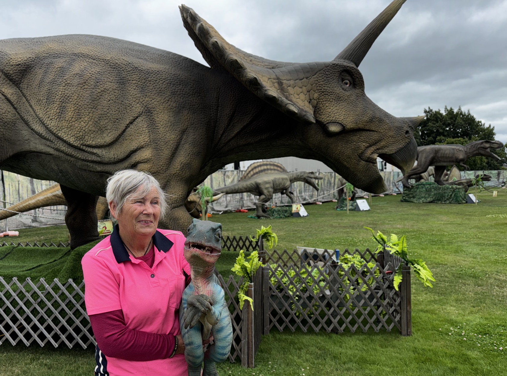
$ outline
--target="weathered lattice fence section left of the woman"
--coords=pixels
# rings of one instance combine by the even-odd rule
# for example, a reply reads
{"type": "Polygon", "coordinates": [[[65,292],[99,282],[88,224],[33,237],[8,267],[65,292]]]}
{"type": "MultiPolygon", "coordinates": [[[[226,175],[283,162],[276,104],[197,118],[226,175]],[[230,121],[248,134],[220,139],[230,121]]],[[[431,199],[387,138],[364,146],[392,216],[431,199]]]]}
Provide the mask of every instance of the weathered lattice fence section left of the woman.
{"type": "Polygon", "coordinates": [[[84,283],[77,286],[71,279],[62,285],[58,279],[8,283],[0,277],[0,345],[95,346],[83,290],[84,283]]]}

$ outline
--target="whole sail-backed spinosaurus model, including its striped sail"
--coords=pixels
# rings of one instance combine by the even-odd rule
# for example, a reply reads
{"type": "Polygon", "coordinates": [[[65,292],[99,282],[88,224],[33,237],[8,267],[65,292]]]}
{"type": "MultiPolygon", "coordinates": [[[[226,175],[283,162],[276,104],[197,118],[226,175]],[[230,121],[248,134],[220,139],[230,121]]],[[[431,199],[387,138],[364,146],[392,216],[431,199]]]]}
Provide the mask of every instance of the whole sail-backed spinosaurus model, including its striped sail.
{"type": "Polygon", "coordinates": [[[246,192],[259,196],[256,204],[256,215],[259,218],[269,218],[270,215],[266,211],[266,203],[273,198],[275,193],[286,195],[292,203],[295,202],[294,193],[289,191],[292,183],[303,181],[311,185],[315,190],[319,190],[315,180],[322,179],[322,176],[308,171],[287,172],[279,163],[271,162],[270,164],[266,164],[265,162],[254,163],[252,164],[252,168],[250,170],[247,169],[237,183],[218,188],[215,191],[221,194],[246,192]],[[281,168],[276,168],[276,165],[279,165],[281,168]],[[280,172],[272,172],[277,170],[280,172]]]}

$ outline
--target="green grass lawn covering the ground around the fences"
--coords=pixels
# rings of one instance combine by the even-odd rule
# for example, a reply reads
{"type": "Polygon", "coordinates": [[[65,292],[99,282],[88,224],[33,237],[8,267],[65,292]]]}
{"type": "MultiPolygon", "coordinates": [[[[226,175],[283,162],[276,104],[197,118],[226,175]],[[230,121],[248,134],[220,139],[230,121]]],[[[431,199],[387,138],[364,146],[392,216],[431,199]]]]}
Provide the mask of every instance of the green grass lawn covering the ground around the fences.
{"type": "MultiPolygon", "coordinates": [[[[224,235],[254,235],[261,225],[271,224],[279,238],[277,249],[375,248],[364,226],[407,235],[411,256],[423,258],[437,279],[434,288],[412,279],[411,337],[402,337],[397,330],[329,334],[274,329],[263,336],[255,369],[224,363],[221,375],[507,374],[507,191],[491,196],[479,193],[478,205],[413,204],[400,202],[400,196],[374,197],[368,212],[347,214],[324,203],[305,206],[310,214],[305,218],[214,215],[211,220],[222,222],[224,235]]],[[[43,230],[53,231],[39,229],[40,239],[43,230]]],[[[59,231],[66,232],[61,227],[59,231]]],[[[234,255],[223,257],[225,273],[234,255]]],[[[0,376],[90,375],[93,363],[92,352],[79,349],[6,343],[0,350],[0,376]]]]}

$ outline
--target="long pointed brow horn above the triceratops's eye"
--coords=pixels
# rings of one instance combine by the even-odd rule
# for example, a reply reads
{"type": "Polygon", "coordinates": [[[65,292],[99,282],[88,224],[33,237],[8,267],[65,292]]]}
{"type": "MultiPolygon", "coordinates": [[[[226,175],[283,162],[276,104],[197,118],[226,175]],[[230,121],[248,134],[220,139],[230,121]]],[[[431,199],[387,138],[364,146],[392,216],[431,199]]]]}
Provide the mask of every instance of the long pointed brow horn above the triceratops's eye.
{"type": "Polygon", "coordinates": [[[372,22],[361,31],[335,60],[348,60],[359,66],[382,30],[400,10],[406,0],[394,0],[372,22]]]}

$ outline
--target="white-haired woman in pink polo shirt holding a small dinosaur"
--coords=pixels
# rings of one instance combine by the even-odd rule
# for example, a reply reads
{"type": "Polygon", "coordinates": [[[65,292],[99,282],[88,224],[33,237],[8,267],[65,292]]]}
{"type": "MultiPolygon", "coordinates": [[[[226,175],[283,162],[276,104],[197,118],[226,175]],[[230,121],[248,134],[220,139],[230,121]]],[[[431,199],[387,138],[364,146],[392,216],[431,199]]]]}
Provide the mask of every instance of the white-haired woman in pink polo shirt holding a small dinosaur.
{"type": "Polygon", "coordinates": [[[82,260],[95,375],[187,375],[178,318],[190,282],[185,236],[157,230],[165,194],[148,173],[118,171],[106,199],[118,224],[82,260]]]}

